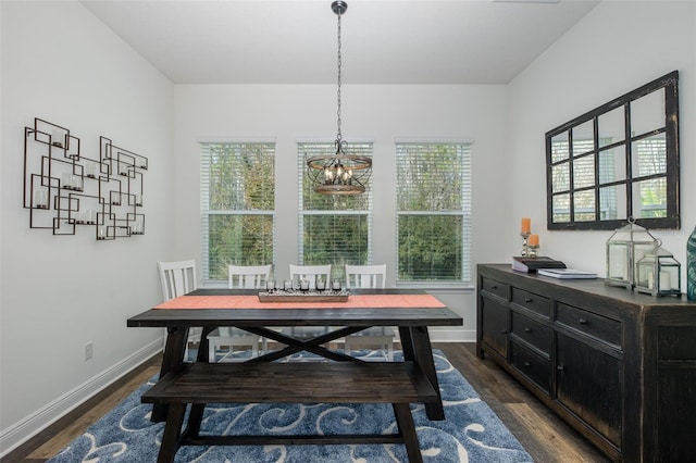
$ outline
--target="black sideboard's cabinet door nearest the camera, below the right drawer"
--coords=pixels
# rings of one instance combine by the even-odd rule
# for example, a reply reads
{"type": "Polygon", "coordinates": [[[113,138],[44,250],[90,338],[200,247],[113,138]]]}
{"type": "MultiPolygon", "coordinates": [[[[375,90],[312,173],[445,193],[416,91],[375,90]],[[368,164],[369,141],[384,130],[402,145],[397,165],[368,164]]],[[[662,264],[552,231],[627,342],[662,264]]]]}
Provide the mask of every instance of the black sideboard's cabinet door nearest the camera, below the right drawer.
{"type": "Polygon", "coordinates": [[[621,448],[621,361],[557,336],[557,400],[621,448]]]}

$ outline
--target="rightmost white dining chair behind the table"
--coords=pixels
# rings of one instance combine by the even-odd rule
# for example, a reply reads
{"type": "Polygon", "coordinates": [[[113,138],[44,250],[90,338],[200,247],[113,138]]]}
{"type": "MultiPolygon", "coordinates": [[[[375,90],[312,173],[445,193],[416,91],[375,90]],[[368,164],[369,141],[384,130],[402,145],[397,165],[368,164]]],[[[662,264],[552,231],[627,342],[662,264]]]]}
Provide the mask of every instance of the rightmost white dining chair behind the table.
{"type": "MultiPolygon", "coordinates": [[[[346,288],[385,288],[387,265],[346,265],[346,288]]],[[[378,346],[384,349],[386,359],[394,360],[394,328],[373,326],[362,331],[346,336],[345,351],[351,352],[355,347],[378,346]]]]}

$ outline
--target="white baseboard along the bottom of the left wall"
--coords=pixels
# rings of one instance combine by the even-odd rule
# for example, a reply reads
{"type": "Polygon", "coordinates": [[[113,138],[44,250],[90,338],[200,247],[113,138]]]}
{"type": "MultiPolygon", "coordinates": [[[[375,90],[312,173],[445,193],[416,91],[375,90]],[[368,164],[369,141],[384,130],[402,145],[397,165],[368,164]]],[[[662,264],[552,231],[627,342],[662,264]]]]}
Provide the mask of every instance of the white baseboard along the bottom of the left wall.
{"type": "Polygon", "coordinates": [[[156,339],[142,349],[127,356],[112,367],[94,376],[64,396],[37,410],[26,418],[2,429],[0,433],[0,458],[26,442],[32,437],[50,426],[71,410],[117,380],[142,362],[162,350],[162,338],[156,339]]]}

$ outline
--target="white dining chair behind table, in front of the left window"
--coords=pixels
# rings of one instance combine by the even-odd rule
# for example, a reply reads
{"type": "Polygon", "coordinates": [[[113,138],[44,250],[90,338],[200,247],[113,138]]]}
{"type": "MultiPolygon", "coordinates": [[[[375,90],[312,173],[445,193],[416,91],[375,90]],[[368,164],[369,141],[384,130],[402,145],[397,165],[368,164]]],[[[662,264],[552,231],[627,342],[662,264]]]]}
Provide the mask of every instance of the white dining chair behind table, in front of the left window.
{"type": "MultiPolygon", "coordinates": [[[[270,277],[271,265],[229,265],[227,267],[227,286],[229,288],[265,288],[265,283],[270,277]]],[[[234,356],[235,346],[251,347],[251,356],[258,356],[259,342],[262,343],[261,349],[265,352],[265,338],[233,326],[221,326],[208,335],[208,361],[216,363],[247,360],[244,356],[234,356]],[[217,356],[221,354],[222,356],[219,359],[217,356]]]]}

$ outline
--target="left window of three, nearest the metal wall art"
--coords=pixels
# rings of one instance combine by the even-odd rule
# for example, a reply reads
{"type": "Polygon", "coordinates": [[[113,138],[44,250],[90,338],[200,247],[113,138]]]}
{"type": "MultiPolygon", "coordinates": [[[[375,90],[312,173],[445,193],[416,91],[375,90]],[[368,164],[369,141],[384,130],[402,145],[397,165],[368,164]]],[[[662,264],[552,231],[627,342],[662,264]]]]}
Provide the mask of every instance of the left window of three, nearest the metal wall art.
{"type": "Polygon", "coordinates": [[[275,261],[275,145],[201,143],[203,279],[275,261]]]}

